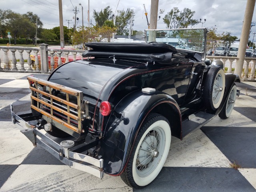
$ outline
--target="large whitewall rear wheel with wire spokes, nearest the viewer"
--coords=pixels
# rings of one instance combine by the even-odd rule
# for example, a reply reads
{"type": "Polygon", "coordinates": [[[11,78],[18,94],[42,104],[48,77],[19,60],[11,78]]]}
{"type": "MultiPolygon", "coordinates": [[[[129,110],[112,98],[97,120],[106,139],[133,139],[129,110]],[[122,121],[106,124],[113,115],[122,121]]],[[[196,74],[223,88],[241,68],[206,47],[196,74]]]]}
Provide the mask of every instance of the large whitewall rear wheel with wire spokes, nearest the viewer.
{"type": "Polygon", "coordinates": [[[122,180],[133,188],[150,184],[164,165],[170,143],[168,120],[160,114],[150,114],[135,139],[122,180]]]}

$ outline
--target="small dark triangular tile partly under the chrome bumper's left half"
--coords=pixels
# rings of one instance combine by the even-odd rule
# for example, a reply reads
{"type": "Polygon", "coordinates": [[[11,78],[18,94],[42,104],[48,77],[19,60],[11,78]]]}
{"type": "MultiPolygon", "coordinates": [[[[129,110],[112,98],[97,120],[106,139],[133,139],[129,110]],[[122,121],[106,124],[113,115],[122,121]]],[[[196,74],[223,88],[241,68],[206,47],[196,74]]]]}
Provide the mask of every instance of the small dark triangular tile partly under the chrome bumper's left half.
{"type": "Polygon", "coordinates": [[[60,160],[40,146],[34,148],[21,164],[64,165],[60,160]]]}

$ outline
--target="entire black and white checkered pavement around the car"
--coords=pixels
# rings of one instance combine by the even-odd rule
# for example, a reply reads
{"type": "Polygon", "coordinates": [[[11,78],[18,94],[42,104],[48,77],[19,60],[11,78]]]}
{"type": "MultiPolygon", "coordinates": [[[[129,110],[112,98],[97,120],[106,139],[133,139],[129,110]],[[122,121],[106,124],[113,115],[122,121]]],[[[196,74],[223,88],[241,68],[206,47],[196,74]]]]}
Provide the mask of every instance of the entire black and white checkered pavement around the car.
{"type": "Polygon", "coordinates": [[[237,83],[241,94],[227,120],[216,117],[182,141],[172,137],[158,177],[134,190],[120,177],[105,174],[100,180],[62,164],[19,132],[9,105],[18,114],[30,110],[28,75],[0,72],[0,192],[256,191],[256,82],[237,83]],[[231,168],[234,162],[242,168],[231,168]]]}

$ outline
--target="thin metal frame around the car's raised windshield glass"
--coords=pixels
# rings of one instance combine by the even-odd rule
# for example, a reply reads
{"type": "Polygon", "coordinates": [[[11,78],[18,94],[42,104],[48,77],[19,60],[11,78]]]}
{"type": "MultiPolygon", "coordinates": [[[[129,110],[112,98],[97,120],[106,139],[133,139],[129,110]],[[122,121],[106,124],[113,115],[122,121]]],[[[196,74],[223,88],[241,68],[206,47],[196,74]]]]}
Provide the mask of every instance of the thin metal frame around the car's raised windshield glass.
{"type": "MultiPolygon", "coordinates": [[[[148,33],[150,31],[174,31],[174,30],[203,30],[203,39],[202,39],[202,47],[204,47],[203,52],[198,52],[202,54],[202,61],[205,60],[206,58],[206,42],[207,42],[207,28],[180,28],[180,29],[146,29],[145,30],[145,42],[148,43],[148,33]],[[147,33],[148,32],[148,33],[147,33]]],[[[184,50],[184,49],[183,49],[184,50]]],[[[185,49],[186,50],[186,49],[185,49]]],[[[189,51],[193,51],[193,50],[189,50],[189,51]]],[[[197,51],[194,51],[197,52],[197,51]]]]}

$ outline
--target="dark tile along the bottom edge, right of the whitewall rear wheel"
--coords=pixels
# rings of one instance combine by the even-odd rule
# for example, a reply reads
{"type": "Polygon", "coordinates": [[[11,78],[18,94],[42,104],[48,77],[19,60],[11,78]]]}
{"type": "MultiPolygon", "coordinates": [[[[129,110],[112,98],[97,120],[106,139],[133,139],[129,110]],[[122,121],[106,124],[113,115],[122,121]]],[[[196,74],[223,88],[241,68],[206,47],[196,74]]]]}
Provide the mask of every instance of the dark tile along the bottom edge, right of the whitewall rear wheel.
{"type": "Polygon", "coordinates": [[[232,168],[163,167],[156,179],[134,192],[255,192],[254,187],[232,168]]]}

